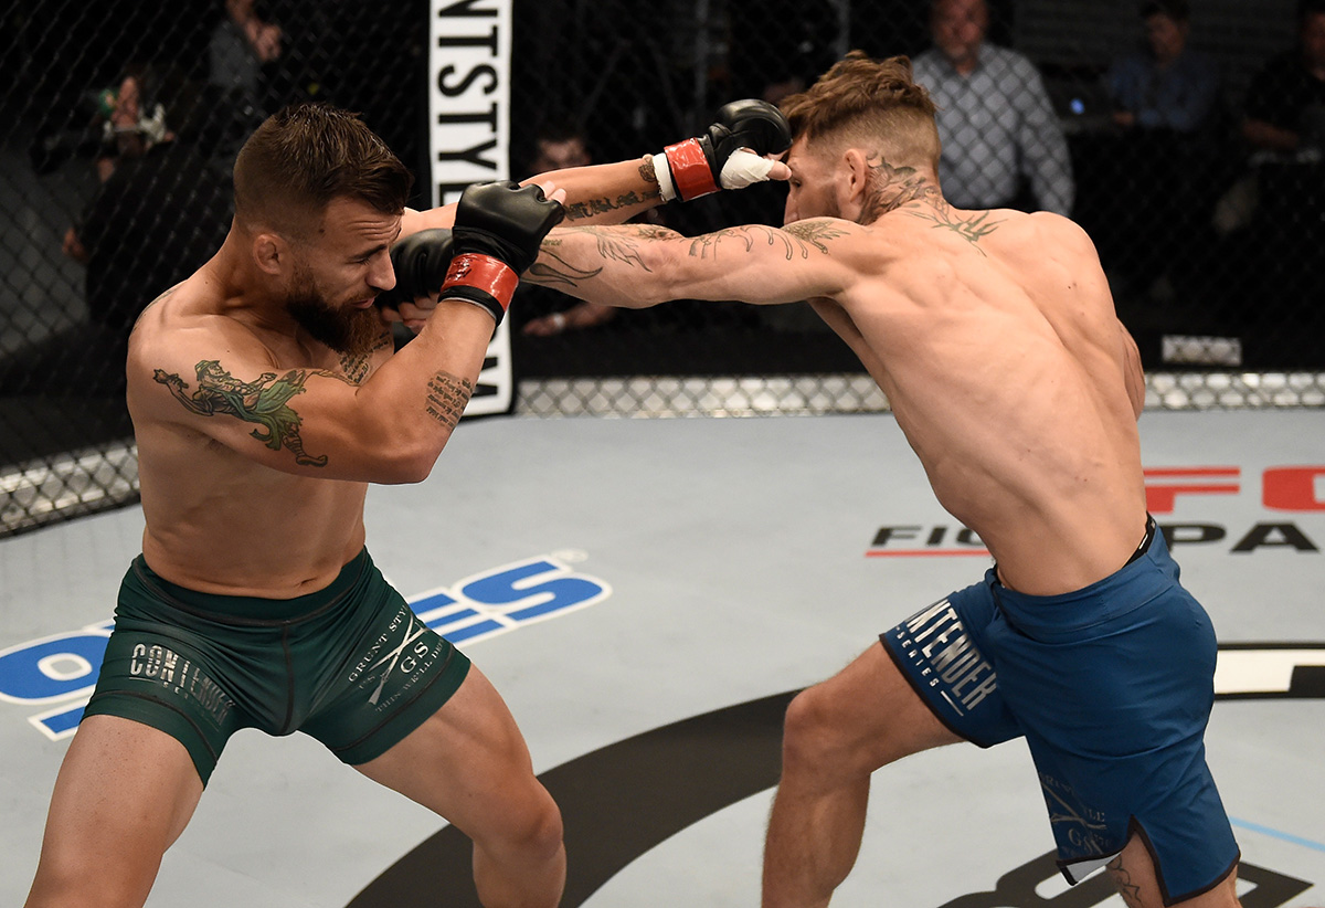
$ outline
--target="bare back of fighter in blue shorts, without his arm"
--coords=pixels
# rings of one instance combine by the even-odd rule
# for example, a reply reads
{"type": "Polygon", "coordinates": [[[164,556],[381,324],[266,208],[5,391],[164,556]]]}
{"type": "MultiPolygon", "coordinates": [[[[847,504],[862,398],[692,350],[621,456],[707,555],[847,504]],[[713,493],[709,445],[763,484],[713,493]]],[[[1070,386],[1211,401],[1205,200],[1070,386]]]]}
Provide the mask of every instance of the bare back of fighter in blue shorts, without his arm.
{"type": "Polygon", "coordinates": [[[815,308],[1004,583],[1052,595],[1117,570],[1145,525],[1140,361],[1085,233],[917,203],[833,255],[859,277],[815,308]]]}

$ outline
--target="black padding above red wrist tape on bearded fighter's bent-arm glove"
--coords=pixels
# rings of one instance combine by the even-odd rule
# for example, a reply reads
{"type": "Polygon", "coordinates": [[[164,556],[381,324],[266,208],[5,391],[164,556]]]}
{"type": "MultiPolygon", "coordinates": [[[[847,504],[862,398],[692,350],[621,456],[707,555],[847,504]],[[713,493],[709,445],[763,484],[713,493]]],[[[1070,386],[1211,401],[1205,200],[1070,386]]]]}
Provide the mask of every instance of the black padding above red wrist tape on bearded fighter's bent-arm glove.
{"type": "Polygon", "coordinates": [[[543,237],[564,216],[560,203],[549,201],[538,186],[476,183],[456,207],[456,252],[492,256],[522,273],[538,258],[543,237]]]}

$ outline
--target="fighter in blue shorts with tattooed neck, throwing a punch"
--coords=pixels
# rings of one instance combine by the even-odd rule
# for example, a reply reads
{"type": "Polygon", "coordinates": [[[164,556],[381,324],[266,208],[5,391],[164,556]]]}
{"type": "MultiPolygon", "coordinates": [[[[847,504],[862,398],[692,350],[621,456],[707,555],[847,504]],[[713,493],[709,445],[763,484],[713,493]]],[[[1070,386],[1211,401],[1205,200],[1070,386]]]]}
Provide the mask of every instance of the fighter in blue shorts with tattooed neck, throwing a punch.
{"type": "MultiPolygon", "coordinates": [[[[933,15],[974,72],[983,0],[933,15]]],[[[792,700],[763,905],[828,904],[881,766],[1022,734],[1069,879],[1106,864],[1130,908],[1230,908],[1238,848],[1202,749],[1215,639],[1147,529],[1137,346],[1080,227],[947,203],[935,110],[905,57],[848,54],[783,101],[782,229],[553,231],[535,277],[600,305],[808,300],[998,565],[792,700]]]]}

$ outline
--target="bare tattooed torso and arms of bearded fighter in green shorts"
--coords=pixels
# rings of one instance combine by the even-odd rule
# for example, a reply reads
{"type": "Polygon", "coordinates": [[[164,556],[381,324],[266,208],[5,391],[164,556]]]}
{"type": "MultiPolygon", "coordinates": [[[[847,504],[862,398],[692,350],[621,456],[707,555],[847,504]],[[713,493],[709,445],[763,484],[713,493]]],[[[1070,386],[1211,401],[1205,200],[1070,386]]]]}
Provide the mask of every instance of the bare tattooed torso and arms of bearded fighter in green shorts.
{"type": "MultiPolygon", "coordinates": [[[[556,183],[571,220],[657,204],[640,162],[562,171],[556,183]]],[[[395,217],[334,207],[347,227],[325,237],[319,264],[338,285],[319,290],[364,309],[388,244],[454,219],[454,205],[395,217]],[[375,262],[360,261],[374,249],[375,262]]],[[[400,353],[383,325],[371,350],[341,354],[254,293],[236,245],[148,306],[130,341],[143,555],[191,590],[286,599],[325,587],[363,547],[370,482],[427,476],[469,400],[492,319],[447,302],[444,335],[424,305],[400,353]]]]}

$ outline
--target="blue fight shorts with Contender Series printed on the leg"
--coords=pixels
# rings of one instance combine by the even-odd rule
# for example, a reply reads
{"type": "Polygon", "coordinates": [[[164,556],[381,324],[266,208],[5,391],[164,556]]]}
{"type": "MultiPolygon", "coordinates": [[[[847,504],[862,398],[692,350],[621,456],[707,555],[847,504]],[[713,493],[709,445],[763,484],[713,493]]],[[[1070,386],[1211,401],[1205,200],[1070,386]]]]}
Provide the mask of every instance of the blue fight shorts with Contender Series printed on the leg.
{"type": "Polygon", "coordinates": [[[982,748],[1026,736],[1069,883],[1133,834],[1166,905],[1236,866],[1203,742],[1215,632],[1153,520],[1133,559],[1098,583],[1030,596],[990,569],[880,639],[955,734],[982,748]]]}

